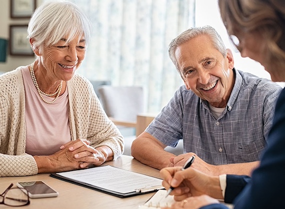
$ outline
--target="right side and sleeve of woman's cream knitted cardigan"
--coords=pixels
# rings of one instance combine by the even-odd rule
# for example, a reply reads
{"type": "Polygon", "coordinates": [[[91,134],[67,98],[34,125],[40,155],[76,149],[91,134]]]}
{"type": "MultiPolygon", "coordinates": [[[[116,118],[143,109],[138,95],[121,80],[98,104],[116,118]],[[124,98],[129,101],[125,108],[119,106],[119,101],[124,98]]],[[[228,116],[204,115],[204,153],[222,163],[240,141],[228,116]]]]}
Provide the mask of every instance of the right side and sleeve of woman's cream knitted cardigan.
{"type": "MultiPolygon", "coordinates": [[[[113,160],[123,153],[124,143],[117,127],[105,114],[92,84],[83,76],[75,75],[68,82],[71,130],[76,138],[87,139],[96,148],[108,146],[113,160]]],[[[75,140],[75,139],[73,139],[75,140]]]]}

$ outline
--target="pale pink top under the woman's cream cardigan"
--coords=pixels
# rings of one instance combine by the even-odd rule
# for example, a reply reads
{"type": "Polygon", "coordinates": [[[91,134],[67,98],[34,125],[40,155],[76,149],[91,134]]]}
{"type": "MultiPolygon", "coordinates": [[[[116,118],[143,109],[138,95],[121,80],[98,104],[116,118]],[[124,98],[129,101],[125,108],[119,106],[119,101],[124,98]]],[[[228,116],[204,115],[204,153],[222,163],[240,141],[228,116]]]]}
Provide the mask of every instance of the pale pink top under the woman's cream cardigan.
{"type": "MultiPolygon", "coordinates": [[[[28,67],[21,71],[25,91],[26,153],[32,156],[52,155],[71,140],[67,88],[54,103],[46,104],[37,93],[28,67]]],[[[54,99],[42,96],[47,101],[54,99]]]]}

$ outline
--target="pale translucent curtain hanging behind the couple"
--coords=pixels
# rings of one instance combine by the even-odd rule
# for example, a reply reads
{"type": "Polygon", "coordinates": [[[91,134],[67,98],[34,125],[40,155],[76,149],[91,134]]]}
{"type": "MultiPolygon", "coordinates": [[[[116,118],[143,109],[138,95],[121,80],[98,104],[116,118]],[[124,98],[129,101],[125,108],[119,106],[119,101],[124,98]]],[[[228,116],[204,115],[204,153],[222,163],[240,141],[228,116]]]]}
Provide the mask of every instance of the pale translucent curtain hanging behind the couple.
{"type": "Polygon", "coordinates": [[[194,26],[195,0],[70,0],[93,31],[78,72],[116,86],[143,86],[146,109],[159,112],[183,84],[168,44],[194,26]]]}

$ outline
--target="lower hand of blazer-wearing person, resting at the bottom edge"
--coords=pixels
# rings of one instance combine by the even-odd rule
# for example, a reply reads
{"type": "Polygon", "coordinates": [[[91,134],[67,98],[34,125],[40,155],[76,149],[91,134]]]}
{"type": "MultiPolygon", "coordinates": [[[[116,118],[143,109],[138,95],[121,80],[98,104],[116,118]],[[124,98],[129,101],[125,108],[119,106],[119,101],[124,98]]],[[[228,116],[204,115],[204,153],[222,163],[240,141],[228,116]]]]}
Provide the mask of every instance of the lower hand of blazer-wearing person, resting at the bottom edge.
{"type": "Polygon", "coordinates": [[[169,209],[199,209],[201,207],[217,204],[219,203],[217,200],[206,196],[198,196],[198,197],[190,197],[183,201],[174,203],[169,209]]]}

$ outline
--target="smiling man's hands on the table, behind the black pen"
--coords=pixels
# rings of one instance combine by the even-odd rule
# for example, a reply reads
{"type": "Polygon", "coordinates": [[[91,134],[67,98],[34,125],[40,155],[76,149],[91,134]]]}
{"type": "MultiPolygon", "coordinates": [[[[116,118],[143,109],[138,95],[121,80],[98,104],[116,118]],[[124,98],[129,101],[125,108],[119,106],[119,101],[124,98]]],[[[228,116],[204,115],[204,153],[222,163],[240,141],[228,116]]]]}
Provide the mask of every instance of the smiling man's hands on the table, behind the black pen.
{"type": "Polygon", "coordinates": [[[176,157],[171,157],[169,159],[170,164],[169,167],[173,166],[183,166],[185,162],[192,156],[195,156],[195,161],[191,165],[191,168],[197,169],[198,171],[201,171],[208,175],[213,175],[217,173],[217,167],[214,165],[210,165],[206,162],[204,162],[202,159],[200,159],[195,153],[185,153],[178,155],[176,157]]]}

